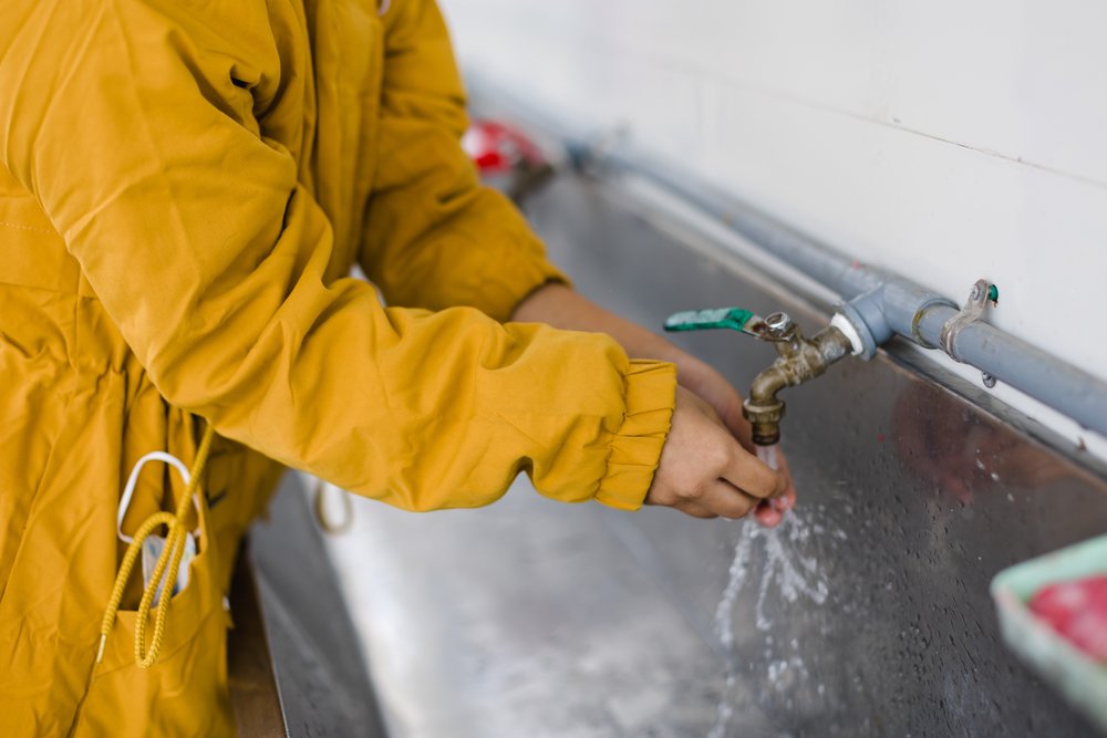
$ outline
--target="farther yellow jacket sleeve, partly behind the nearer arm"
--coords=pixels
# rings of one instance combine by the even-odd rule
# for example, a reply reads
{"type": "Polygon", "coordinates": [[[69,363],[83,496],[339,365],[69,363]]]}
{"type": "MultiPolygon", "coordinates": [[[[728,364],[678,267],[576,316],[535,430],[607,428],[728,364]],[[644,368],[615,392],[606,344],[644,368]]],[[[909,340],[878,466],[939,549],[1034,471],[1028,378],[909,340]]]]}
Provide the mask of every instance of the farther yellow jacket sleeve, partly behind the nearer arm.
{"type": "Polygon", "coordinates": [[[384,21],[362,267],[390,304],[473,305],[507,320],[530,291],[567,280],[515,206],[479,185],[462,150],[465,97],[437,4],[401,0],[384,21]]]}

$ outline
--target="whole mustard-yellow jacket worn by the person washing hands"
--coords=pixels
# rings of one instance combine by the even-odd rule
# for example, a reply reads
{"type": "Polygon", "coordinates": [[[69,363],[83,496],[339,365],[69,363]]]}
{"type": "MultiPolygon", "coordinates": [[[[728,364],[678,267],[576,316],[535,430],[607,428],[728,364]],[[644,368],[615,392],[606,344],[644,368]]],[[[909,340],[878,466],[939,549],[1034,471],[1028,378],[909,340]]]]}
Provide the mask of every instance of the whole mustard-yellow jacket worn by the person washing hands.
{"type": "MultiPolygon", "coordinates": [[[[497,322],[561,276],[477,186],[463,105],[431,0],[3,3],[0,735],[230,732],[224,594],[280,465],[412,510],[520,470],[641,503],[675,372],[497,322]],[[190,465],[199,418],[158,661],[123,610],[96,664],[123,482],[147,451],[190,465]]],[[[124,530],[174,507],[164,469],[124,530]]]]}

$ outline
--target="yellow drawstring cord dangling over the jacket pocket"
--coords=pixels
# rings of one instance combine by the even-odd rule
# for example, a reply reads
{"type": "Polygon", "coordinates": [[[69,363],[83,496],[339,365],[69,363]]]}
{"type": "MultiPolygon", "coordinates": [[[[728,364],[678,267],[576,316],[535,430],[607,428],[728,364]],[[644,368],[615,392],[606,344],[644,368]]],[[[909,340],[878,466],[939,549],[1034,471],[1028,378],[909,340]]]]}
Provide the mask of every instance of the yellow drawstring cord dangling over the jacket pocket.
{"type": "Polygon", "coordinates": [[[204,472],[204,466],[207,464],[208,451],[211,449],[211,438],[214,436],[215,429],[210,425],[207,425],[204,428],[204,437],[200,439],[200,446],[196,451],[196,460],[193,461],[188,485],[185,493],[177,502],[176,511],[173,514],[164,510],[155,512],[146,518],[138,527],[138,530],[135,531],[134,539],[123,555],[123,563],[120,565],[120,571],[115,575],[115,586],[112,588],[112,599],[107,603],[107,610],[104,611],[104,620],[100,623],[100,648],[96,652],[97,664],[104,659],[104,646],[107,643],[108,634],[112,632],[112,626],[115,625],[115,615],[118,613],[120,603],[123,601],[123,590],[126,588],[127,579],[131,576],[131,570],[134,569],[135,561],[137,561],[138,554],[142,552],[143,541],[154,532],[155,528],[164,524],[168,527],[169,533],[165,541],[165,548],[157,558],[154,573],[149,578],[149,581],[146,582],[146,589],[143,590],[142,601],[138,603],[138,622],[135,630],[135,664],[139,668],[149,668],[157,661],[157,653],[162,649],[162,640],[165,635],[165,617],[169,612],[169,601],[173,599],[173,585],[177,581],[180,558],[185,553],[185,536],[187,534],[185,530],[185,513],[188,512],[188,506],[192,505],[193,496],[199,487],[199,478],[204,472]],[[168,565],[169,571],[166,575],[165,586],[162,588],[162,597],[157,602],[157,612],[154,616],[154,638],[147,651],[146,619],[149,615],[151,603],[157,593],[158,583],[162,581],[162,574],[165,573],[166,565],[168,565]]]}

